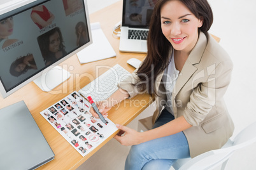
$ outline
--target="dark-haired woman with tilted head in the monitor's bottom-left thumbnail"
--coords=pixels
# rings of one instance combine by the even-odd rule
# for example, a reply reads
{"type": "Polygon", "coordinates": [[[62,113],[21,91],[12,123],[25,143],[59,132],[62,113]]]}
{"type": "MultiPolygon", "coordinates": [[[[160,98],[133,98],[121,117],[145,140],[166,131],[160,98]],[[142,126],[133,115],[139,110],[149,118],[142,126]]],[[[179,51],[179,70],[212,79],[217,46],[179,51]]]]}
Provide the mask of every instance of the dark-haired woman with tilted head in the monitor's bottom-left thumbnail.
{"type": "Polygon", "coordinates": [[[18,77],[22,74],[25,74],[29,69],[38,69],[38,67],[36,67],[36,62],[34,61],[34,56],[32,54],[20,56],[13,63],[11,63],[10,74],[18,77]]]}

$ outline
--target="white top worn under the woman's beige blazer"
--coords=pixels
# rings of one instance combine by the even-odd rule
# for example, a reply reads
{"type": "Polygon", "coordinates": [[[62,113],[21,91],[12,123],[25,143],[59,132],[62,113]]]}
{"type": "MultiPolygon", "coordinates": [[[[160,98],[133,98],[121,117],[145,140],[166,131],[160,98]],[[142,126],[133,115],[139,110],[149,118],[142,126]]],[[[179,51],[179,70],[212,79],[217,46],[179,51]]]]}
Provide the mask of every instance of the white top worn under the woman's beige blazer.
{"type": "Polygon", "coordinates": [[[164,75],[162,76],[162,82],[164,83],[164,88],[166,89],[166,96],[167,96],[165,107],[168,110],[168,112],[170,112],[171,114],[173,114],[173,105],[171,104],[171,96],[173,93],[173,88],[176,84],[176,80],[178,79],[178,76],[180,74],[180,71],[177,70],[175,67],[173,53],[171,55],[171,62],[164,70],[164,75]]]}

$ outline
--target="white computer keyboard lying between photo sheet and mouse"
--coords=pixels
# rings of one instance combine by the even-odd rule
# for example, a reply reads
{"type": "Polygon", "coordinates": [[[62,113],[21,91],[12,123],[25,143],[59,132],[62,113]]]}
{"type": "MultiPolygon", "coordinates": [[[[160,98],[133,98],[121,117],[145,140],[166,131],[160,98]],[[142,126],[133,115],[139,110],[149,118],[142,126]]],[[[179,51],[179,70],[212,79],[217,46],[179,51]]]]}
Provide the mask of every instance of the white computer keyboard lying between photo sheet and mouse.
{"type": "Polygon", "coordinates": [[[78,92],[84,96],[92,96],[94,101],[105,100],[117,91],[118,82],[123,81],[129,75],[131,75],[130,72],[117,64],[114,67],[110,67],[109,70],[94,79],[94,81],[87,84],[87,86],[83,87],[78,92]]]}

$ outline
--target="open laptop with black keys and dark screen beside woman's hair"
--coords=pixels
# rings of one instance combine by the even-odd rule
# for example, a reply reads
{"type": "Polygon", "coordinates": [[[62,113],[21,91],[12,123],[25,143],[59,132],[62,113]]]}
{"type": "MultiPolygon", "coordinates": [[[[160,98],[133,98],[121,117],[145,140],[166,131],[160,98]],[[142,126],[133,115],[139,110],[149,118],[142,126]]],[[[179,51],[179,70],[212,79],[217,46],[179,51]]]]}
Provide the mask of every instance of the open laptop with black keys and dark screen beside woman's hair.
{"type": "Polygon", "coordinates": [[[157,0],[124,0],[119,51],[146,53],[146,38],[157,0]]]}

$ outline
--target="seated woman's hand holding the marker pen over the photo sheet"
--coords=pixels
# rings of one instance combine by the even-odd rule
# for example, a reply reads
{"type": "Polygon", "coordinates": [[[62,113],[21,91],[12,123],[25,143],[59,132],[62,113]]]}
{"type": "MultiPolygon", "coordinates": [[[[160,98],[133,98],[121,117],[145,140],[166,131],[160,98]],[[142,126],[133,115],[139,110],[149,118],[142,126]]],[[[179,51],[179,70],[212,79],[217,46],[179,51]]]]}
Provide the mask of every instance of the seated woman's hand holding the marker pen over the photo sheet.
{"type": "MultiPolygon", "coordinates": [[[[108,110],[110,110],[112,107],[110,106],[110,103],[108,103],[108,100],[97,101],[95,103],[103,117],[108,117],[108,110]]],[[[90,114],[92,114],[92,116],[96,118],[99,118],[99,115],[95,112],[94,108],[92,107],[90,107],[90,114]]]]}

